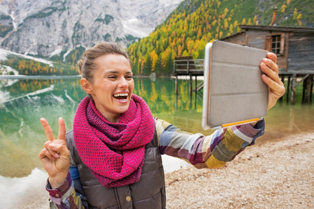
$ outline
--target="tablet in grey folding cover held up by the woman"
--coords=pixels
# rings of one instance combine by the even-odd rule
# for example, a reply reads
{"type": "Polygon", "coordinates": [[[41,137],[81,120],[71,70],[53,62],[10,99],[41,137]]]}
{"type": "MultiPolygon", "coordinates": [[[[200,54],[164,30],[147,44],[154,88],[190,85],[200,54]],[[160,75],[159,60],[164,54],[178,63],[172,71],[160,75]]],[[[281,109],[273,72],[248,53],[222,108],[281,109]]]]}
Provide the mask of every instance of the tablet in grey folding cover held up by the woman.
{"type": "Polygon", "coordinates": [[[268,86],[259,63],[267,51],[215,40],[204,61],[202,127],[227,127],[266,116],[268,86]]]}

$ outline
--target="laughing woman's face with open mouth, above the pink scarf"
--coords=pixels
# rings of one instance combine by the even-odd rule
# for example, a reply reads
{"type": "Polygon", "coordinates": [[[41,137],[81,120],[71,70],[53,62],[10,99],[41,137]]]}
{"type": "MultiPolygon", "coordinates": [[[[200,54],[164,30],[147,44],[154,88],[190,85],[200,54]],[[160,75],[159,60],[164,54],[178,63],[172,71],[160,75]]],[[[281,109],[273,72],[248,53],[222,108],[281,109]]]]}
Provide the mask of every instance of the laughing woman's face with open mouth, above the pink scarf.
{"type": "Polygon", "coordinates": [[[90,93],[97,109],[110,122],[117,123],[120,114],[129,109],[134,90],[129,61],[120,54],[106,54],[95,60],[91,82],[81,80],[86,93],[90,93]]]}

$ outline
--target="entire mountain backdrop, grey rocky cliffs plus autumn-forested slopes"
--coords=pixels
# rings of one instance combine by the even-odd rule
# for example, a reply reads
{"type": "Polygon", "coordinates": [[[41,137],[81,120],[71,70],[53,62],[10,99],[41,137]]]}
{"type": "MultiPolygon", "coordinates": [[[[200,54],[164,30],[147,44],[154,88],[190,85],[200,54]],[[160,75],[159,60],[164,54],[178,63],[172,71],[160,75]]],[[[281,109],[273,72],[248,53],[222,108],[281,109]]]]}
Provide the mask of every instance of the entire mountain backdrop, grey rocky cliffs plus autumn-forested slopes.
{"type": "Polygon", "coordinates": [[[204,59],[207,42],[240,24],[269,25],[275,6],[275,25],[314,27],[313,0],[1,0],[1,48],[50,59],[54,68],[34,70],[34,61],[13,56],[0,64],[22,75],[73,75],[86,47],[110,40],[129,46],[134,74],[170,75],[175,56],[204,59]]]}

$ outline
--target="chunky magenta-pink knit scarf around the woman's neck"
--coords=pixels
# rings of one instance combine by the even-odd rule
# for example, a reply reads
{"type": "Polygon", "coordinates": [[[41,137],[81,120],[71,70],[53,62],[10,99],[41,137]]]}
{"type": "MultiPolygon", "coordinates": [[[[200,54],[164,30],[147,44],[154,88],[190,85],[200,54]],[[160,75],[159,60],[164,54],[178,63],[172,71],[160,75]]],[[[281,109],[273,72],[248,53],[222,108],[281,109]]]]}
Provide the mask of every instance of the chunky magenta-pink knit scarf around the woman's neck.
{"type": "Polygon", "coordinates": [[[105,187],[136,183],[141,176],[145,145],[154,135],[155,122],[148,105],[132,95],[119,123],[110,123],[84,98],[76,110],[73,134],[83,163],[105,187]]]}

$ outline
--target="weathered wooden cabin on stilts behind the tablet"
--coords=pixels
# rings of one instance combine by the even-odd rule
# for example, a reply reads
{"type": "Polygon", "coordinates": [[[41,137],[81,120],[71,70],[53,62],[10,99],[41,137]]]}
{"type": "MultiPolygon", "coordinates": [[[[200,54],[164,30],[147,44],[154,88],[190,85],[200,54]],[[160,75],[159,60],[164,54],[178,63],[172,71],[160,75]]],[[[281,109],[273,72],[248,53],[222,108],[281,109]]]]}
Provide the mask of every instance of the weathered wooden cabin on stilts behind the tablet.
{"type": "Polygon", "coordinates": [[[285,26],[240,25],[243,30],[221,38],[238,45],[265,49],[277,54],[279,75],[287,78],[287,100],[290,88],[294,104],[297,85],[303,82],[302,102],[311,102],[314,77],[314,29],[285,26]],[[291,82],[291,86],[290,86],[291,82]]]}

